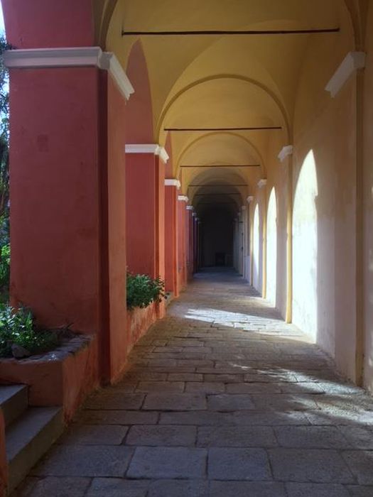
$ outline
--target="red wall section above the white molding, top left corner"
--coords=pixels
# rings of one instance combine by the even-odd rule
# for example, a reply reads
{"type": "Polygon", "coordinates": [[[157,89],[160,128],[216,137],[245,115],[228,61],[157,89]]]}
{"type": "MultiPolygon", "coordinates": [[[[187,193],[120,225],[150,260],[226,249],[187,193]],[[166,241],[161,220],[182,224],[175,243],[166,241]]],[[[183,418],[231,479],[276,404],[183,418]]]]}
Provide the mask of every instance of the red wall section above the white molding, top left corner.
{"type": "Polygon", "coordinates": [[[92,0],[1,0],[6,37],[16,48],[94,43],[92,0]]]}

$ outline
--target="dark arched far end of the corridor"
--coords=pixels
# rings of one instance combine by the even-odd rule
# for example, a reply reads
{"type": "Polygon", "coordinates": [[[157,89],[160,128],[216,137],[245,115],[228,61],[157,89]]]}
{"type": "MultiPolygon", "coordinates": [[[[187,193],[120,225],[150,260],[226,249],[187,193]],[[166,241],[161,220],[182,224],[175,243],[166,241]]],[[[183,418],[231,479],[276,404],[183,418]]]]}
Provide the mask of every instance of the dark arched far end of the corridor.
{"type": "Polygon", "coordinates": [[[203,213],[201,263],[202,267],[233,266],[234,220],[228,209],[218,204],[203,213]]]}

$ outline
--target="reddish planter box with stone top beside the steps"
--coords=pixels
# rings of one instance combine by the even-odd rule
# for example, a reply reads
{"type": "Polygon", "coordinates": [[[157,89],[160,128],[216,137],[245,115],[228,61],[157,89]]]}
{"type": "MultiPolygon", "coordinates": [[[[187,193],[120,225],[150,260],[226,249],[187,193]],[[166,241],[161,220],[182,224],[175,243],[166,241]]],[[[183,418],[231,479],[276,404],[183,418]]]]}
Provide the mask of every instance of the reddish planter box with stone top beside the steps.
{"type": "Polygon", "coordinates": [[[99,384],[97,339],[77,335],[47,354],[1,359],[0,383],[28,385],[29,405],[61,406],[68,421],[99,384]]]}

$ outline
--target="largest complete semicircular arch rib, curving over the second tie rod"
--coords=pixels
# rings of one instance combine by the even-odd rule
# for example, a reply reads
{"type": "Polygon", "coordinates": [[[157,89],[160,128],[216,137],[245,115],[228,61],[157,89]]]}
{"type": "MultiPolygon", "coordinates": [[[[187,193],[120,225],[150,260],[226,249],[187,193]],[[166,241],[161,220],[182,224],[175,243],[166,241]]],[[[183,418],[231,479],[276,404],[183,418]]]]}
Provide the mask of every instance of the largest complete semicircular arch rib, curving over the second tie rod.
{"type": "Polygon", "coordinates": [[[177,92],[170,99],[170,101],[166,104],[166,107],[164,107],[163,111],[161,112],[161,116],[159,116],[157,129],[156,129],[156,136],[158,137],[158,139],[160,138],[162,123],[166,119],[166,115],[167,115],[169,109],[171,109],[173,104],[175,104],[175,102],[181,97],[181,95],[183,95],[185,92],[188,92],[188,90],[199,86],[200,84],[204,84],[204,83],[209,82],[209,81],[224,80],[224,79],[239,80],[239,81],[247,82],[248,84],[253,84],[254,86],[262,89],[266,94],[268,94],[269,97],[271,98],[271,100],[276,104],[276,107],[279,109],[279,111],[281,113],[281,116],[283,118],[283,122],[284,122],[285,128],[286,128],[286,139],[290,139],[291,126],[290,126],[289,121],[288,121],[288,116],[286,115],[286,109],[285,109],[285,107],[283,107],[283,104],[281,104],[281,101],[279,100],[279,98],[276,97],[276,94],[274,94],[274,92],[271,92],[271,90],[268,87],[266,87],[264,84],[262,84],[261,82],[253,80],[250,77],[246,77],[246,76],[242,76],[242,75],[229,75],[229,74],[220,74],[220,75],[203,77],[198,81],[195,81],[193,83],[188,84],[183,89],[180,89],[180,91],[177,92]]]}

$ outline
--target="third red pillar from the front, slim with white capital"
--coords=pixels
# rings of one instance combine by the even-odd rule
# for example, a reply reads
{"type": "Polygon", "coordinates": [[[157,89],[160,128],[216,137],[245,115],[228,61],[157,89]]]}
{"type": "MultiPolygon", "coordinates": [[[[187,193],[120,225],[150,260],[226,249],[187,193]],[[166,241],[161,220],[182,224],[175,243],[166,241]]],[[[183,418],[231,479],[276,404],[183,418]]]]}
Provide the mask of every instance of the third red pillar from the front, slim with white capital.
{"type": "Polygon", "coordinates": [[[178,190],[180,181],[166,179],[165,200],[165,283],[166,291],[179,295],[178,286],[178,190]]]}

